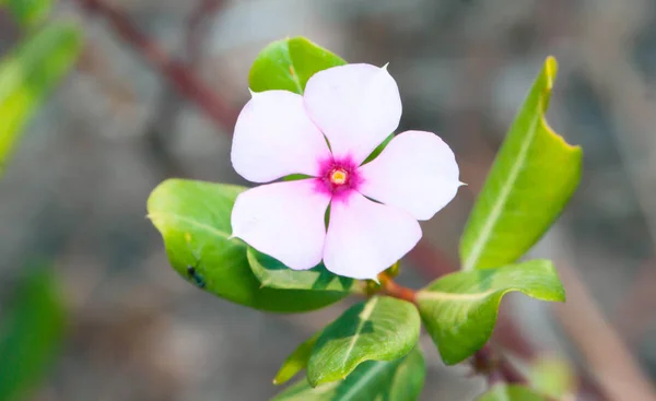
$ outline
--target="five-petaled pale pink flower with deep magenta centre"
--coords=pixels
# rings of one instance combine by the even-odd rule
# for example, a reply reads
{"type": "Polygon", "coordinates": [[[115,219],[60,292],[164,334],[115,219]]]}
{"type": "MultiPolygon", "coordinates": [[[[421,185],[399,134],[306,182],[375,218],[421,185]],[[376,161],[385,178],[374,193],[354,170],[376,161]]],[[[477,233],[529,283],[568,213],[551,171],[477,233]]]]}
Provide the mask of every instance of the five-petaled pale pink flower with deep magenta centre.
{"type": "Polygon", "coordinates": [[[320,71],[303,96],[254,93],[235,127],[235,170],[254,182],[308,178],[239,194],[233,236],[294,270],[323,260],[336,274],[375,279],[417,245],[418,220],[461,185],[454,153],[432,132],[402,132],[362,164],[400,118],[396,81],[371,64],[320,71]]]}

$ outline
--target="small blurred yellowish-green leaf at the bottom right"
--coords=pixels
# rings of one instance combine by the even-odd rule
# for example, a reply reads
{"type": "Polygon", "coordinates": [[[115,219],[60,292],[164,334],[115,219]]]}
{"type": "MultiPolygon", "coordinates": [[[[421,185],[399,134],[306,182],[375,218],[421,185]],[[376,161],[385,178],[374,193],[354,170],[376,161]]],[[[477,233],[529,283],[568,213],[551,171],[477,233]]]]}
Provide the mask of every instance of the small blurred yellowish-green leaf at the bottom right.
{"type": "Polygon", "coordinates": [[[576,391],[575,373],[561,358],[540,357],[529,369],[529,381],[537,392],[555,400],[563,400],[576,391]]]}

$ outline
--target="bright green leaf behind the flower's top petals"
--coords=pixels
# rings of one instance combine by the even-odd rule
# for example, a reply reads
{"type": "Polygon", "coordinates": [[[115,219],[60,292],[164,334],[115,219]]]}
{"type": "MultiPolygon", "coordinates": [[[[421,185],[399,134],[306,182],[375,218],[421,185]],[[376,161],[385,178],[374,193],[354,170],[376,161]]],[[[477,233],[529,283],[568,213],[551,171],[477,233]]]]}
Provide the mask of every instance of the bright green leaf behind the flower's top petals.
{"type": "Polygon", "coordinates": [[[347,62],[304,37],[273,42],[257,56],[248,83],[255,92],[285,90],[302,94],[316,72],[347,62]]]}

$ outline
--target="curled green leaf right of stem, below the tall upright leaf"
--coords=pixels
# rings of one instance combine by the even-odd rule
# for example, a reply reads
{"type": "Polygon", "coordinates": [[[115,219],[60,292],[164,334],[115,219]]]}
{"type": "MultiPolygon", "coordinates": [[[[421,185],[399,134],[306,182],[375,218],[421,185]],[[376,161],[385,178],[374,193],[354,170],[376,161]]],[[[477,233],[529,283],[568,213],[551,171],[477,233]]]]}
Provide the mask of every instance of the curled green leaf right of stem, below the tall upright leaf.
{"type": "Polygon", "coordinates": [[[466,359],[488,342],[501,298],[513,291],[541,300],[565,300],[549,260],[448,274],[417,294],[422,320],[445,364],[466,359]]]}

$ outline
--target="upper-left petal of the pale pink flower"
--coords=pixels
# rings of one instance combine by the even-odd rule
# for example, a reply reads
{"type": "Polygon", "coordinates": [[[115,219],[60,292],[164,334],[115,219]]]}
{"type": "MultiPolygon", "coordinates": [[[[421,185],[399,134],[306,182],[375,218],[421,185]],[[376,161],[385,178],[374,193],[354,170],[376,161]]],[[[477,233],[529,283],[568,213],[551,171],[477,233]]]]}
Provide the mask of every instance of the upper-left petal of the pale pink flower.
{"type": "Polygon", "coordinates": [[[254,93],[242,109],[231,157],[242,177],[268,182],[290,174],[318,175],[318,163],[330,157],[330,150],[301,95],[266,91],[254,93]]]}

